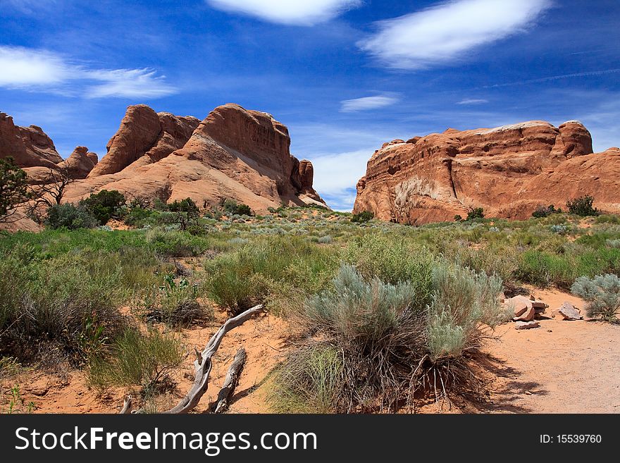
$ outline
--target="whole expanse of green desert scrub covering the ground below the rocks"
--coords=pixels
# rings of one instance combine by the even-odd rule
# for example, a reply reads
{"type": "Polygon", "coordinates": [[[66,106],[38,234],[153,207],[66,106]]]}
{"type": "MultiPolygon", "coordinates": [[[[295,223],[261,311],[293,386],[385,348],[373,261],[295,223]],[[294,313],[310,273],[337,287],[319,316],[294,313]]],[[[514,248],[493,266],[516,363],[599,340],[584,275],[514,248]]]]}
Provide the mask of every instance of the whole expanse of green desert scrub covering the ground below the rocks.
{"type": "MultiPolygon", "coordinates": [[[[617,321],[620,221],[588,204],[419,227],[105,190],[52,204],[41,232],[0,235],[0,378],[74,369],[97,394],[124,388],[157,411],[193,355],[182,333],[262,304],[294,327],[268,376],[275,412],[395,412],[481,390],[481,342],[510,319],[502,292],[571,290],[617,321]]],[[[11,410],[35,407],[11,387],[11,410]]]]}

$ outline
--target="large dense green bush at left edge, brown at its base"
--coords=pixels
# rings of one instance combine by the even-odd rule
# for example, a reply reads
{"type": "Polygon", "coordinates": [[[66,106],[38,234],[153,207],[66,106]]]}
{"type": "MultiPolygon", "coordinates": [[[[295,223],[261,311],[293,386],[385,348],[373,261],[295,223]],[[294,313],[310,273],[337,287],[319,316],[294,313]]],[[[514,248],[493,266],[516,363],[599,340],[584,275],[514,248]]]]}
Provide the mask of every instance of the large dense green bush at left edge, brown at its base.
{"type": "Polygon", "coordinates": [[[0,262],[0,355],[23,362],[84,362],[125,325],[118,268],[67,257],[0,262]],[[8,278],[11,278],[9,280],[8,278]]]}

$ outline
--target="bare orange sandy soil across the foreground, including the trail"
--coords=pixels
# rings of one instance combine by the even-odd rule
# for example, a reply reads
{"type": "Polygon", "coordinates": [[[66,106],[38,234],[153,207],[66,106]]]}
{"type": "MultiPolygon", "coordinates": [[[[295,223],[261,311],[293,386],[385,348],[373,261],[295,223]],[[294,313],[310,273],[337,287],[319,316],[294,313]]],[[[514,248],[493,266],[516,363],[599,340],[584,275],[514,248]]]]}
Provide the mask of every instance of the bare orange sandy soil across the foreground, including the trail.
{"type": "MultiPolygon", "coordinates": [[[[481,400],[446,409],[429,402],[423,413],[619,413],[620,412],[620,326],[598,321],[563,321],[552,311],[568,301],[579,309],[582,300],[559,291],[533,290],[549,304],[540,328],[517,331],[513,323],[497,329],[499,338],[485,345],[485,373],[488,395],[481,400]]],[[[159,409],[172,406],[190,388],[193,348],[202,349],[225,319],[216,314],[209,326],[184,330],[182,340],[188,356],[182,371],[173,378],[176,388],[164,395],[159,409]]],[[[207,412],[223,383],[226,371],[239,347],[247,350],[248,362],[230,408],[233,413],[268,412],[268,372],[290,348],[290,328],[274,316],[248,321],[229,333],[214,357],[209,390],[198,412],[207,412]]],[[[103,396],[87,388],[85,374],[77,370],[61,374],[25,371],[1,381],[5,397],[11,385],[19,383],[26,401],[34,401],[38,413],[117,413],[126,390],[110,390],[103,396]]]]}

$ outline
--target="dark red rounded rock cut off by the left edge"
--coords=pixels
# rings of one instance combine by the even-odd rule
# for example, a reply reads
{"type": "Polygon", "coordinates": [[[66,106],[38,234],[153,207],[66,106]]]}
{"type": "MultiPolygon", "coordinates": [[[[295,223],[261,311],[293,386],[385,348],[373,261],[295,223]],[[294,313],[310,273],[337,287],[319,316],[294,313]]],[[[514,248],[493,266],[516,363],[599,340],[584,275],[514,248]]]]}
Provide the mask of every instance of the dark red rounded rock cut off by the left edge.
{"type": "Polygon", "coordinates": [[[20,127],[11,116],[0,113],[0,158],[8,156],[20,167],[54,168],[63,160],[40,127],[20,127]]]}

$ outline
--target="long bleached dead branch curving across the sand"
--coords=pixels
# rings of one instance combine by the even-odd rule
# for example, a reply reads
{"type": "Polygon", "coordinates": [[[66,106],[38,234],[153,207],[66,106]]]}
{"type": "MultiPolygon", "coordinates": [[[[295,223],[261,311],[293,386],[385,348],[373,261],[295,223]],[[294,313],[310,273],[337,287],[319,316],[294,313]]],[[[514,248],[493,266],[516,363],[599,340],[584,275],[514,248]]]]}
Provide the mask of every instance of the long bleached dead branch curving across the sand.
{"type": "MultiPolygon", "coordinates": [[[[228,319],[221,328],[211,336],[209,342],[207,342],[206,347],[202,352],[198,352],[197,359],[194,361],[194,384],[190,391],[183,397],[175,407],[169,409],[163,413],[171,413],[171,414],[180,414],[180,413],[188,413],[198,405],[200,399],[204,393],[206,393],[206,389],[209,388],[209,374],[211,374],[211,367],[213,366],[211,359],[213,355],[218,351],[222,340],[228,331],[231,331],[237,326],[241,326],[243,323],[252,318],[254,314],[258,314],[263,310],[263,305],[259,304],[256,307],[252,307],[252,309],[247,309],[242,314],[239,314],[232,319],[228,319]]],[[[239,352],[237,352],[237,355],[239,352]]],[[[235,355],[235,360],[237,359],[237,355],[235,355]]],[[[235,362],[233,362],[234,365],[235,362]]],[[[232,366],[231,366],[232,369],[232,366]]],[[[229,371],[230,374],[230,371],[229,371]]],[[[228,375],[227,375],[228,379],[228,375]]],[[[226,385],[226,383],[225,383],[226,385]]],[[[130,413],[131,412],[131,396],[128,396],[125,399],[125,405],[123,405],[123,409],[121,413],[130,413]]],[[[131,412],[137,413],[139,411],[131,412]]]]}

